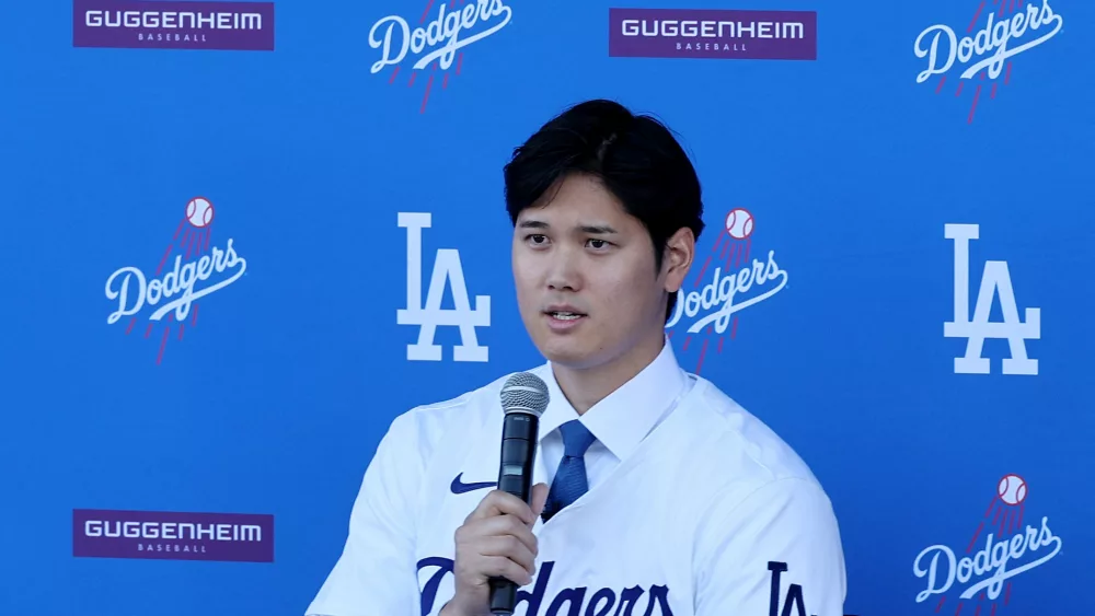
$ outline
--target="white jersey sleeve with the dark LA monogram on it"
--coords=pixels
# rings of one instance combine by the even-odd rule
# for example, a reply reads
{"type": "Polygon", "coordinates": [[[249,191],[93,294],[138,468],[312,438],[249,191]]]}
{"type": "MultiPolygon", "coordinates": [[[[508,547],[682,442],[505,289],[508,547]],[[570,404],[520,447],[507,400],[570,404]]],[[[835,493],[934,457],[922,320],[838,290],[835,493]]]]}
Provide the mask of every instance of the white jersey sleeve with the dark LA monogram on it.
{"type": "Polygon", "coordinates": [[[721,495],[694,546],[695,616],[841,616],[845,573],[831,503],[815,481],[721,495]]]}

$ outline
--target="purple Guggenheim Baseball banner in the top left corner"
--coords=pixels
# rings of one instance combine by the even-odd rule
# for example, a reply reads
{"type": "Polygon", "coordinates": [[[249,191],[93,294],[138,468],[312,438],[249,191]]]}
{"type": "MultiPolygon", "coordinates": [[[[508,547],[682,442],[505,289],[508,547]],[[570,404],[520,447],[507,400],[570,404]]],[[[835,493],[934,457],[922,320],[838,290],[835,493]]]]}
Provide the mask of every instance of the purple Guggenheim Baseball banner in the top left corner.
{"type": "Polygon", "coordinates": [[[73,0],[72,45],[273,51],[274,3],[73,0]]]}

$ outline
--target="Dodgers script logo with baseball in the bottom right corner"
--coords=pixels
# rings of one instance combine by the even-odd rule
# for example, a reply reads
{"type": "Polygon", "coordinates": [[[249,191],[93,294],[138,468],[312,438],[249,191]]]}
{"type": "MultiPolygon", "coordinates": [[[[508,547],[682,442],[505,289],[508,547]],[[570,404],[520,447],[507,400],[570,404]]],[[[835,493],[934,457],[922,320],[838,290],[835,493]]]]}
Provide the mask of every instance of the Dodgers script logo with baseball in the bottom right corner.
{"type": "Polygon", "coordinates": [[[917,603],[942,595],[932,602],[935,612],[953,597],[956,616],[964,602],[976,603],[978,613],[991,609],[995,614],[999,604],[1011,602],[1013,578],[1041,567],[1061,551],[1061,537],[1050,531],[1049,518],[1024,528],[1027,490],[1022,477],[1005,475],[965,550],[933,545],[917,555],[912,572],[926,583],[917,603]]]}

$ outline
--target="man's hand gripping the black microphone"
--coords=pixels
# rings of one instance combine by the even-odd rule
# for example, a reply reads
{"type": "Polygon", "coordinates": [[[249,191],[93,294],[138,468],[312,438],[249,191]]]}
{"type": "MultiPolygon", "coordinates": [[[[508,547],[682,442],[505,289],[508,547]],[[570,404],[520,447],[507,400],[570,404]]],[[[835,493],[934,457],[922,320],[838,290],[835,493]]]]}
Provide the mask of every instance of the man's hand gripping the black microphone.
{"type": "Polygon", "coordinates": [[[457,528],[456,595],[440,616],[489,616],[489,578],[507,578],[518,586],[532,581],[537,558],[532,526],[546,500],[545,484],[532,487],[532,507],[502,490],[483,498],[457,528]]]}

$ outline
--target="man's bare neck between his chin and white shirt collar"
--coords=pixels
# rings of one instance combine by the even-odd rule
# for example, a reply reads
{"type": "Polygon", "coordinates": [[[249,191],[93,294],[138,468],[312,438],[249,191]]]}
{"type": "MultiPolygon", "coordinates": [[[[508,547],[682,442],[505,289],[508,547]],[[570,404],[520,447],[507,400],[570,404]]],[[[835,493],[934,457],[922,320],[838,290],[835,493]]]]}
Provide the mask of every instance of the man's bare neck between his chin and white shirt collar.
{"type": "Polygon", "coordinates": [[[665,345],[665,332],[659,332],[658,336],[641,341],[623,357],[606,364],[587,369],[552,364],[552,372],[570,406],[578,415],[584,415],[650,365],[665,345]]]}

